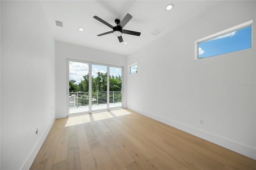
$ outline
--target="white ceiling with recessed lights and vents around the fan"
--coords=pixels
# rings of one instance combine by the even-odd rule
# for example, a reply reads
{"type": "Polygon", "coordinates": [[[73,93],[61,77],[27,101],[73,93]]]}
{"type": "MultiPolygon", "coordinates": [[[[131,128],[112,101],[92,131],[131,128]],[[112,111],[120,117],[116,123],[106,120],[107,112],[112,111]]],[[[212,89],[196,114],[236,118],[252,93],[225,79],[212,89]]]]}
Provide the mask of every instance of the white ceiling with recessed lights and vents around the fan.
{"type": "Polygon", "coordinates": [[[221,1],[56,0],[41,1],[41,3],[55,40],[129,55],[202,12],[213,8],[221,1]],[[167,4],[174,4],[174,8],[166,11],[167,4]],[[122,34],[124,42],[128,44],[120,43],[113,34],[97,36],[112,29],[94,19],[93,16],[98,16],[112,26],[116,26],[114,20],[122,20],[127,13],[133,18],[124,29],[141,32],[140,36],[122,34]],[[56,26],[55,20],[63,22],[63,28],[56,26]],[[84,32],[78,31],[78,28],[83,28],[84,32]],[[156,28],[162,32],[156,36],[150,34],[156,28]]]}

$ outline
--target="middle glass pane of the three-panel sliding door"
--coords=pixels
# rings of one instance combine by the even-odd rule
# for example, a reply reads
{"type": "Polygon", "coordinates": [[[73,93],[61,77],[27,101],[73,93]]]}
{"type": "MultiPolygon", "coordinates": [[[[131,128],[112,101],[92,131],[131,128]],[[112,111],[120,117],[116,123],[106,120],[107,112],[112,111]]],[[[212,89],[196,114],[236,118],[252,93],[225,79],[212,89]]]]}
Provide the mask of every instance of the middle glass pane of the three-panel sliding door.
{"type": "Polygon", "coordinates": [[[92,111],[107,109],[107,66],[92,64],[92,111]]]}

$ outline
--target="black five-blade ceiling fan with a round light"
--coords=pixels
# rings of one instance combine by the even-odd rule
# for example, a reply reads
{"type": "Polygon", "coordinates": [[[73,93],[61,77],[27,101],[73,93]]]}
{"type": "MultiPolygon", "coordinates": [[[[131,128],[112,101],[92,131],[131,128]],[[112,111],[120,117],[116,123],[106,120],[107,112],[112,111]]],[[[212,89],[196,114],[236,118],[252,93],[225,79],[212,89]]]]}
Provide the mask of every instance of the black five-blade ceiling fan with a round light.
{"type": "Polygon", "coordinates": [[[112,26],[112,25],[108,24],[106,21],[102,20],[98,16],[94,16],[93,18],[95,18],[99,22],[102,22],[106,26],[113,29],[113,31],[105,32],[105,33],[99,34],[97,36],[104,36],[106,34],[113,33],[114,36],[118,37],[119,42],[123,42],[122,34],[130,34],[130,35],[134,35],[134,36],[140,36],[140,32],[123,30],[124,26],[132,19],[132,16],[130,14],[126,14],[126,16],[124,17],[124,19],[121,22],[120,22],[120,20],[116,19],[115,20],[116,26],[112,26]]]}

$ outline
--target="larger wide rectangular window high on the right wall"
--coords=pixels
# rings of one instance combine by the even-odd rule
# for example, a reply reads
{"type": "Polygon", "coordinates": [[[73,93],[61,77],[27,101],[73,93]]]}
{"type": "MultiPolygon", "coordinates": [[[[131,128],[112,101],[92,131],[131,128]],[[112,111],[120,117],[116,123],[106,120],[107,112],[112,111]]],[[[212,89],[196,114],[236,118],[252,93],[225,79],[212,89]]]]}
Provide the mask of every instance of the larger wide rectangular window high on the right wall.
{"type": "Polygon", "coordinates": [[[195,59],[251,48],[252,21],[196,41],[195,59]]]}

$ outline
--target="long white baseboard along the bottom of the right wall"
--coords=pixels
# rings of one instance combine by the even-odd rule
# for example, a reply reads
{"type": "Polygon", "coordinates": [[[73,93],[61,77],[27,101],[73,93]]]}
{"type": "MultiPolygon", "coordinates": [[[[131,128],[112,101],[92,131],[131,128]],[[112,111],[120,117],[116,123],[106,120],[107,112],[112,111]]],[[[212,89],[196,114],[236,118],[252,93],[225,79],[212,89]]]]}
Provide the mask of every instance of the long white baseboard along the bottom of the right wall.
{"type": "Polygon", "coordinates": [[[242,154],[244,156],[247,156],[249,158],[256,160],[256,148],[246,146],[244,144],[229,140],[227,138],[223,138],[221,136],[200,130],[198,128],[190,127],[188,125],[173,121],[171,119],[156,115],[154,113],[150,113],[147,111],[141,111],[141,110],[129,107],[129,106],[127,106],[127,108],[130,110],[136,111],[142,115],[145,115],[147,117],[150,117],[152,119],[155,119],[157,121],[160,121],[162,123],[165,123],[166,125],[170,125],[172,127],[178,128],[184,132],[188,132],[194,136],[198,136],[199,138],[208,140],[214,144],[220,145],[224,148],[230,149],[234,152],[237,152],[239,154],[242,154]]]}

